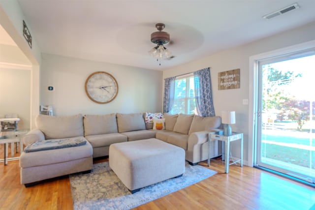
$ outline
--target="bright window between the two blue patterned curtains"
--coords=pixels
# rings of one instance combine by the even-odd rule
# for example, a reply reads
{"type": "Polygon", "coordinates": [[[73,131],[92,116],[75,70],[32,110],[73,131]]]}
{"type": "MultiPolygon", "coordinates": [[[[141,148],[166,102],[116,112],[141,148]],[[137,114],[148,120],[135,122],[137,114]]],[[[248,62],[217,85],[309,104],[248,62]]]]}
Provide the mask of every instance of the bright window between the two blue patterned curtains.
{"type": "Polygon", "coordinates": [[[171,114],[196,114],[193,73],[175,80],[174,105],[171,114]]]}

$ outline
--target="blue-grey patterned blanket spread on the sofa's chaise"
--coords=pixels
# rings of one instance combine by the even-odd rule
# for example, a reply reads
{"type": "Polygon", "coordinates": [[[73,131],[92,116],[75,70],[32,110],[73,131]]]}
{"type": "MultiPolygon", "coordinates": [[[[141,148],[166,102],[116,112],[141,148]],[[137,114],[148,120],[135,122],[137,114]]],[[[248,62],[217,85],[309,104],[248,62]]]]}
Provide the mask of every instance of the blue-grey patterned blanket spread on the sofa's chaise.
{"type": "Polygon", "coordinates": [[[87,141],[83,138],[77,139],[53,139],[53,140],[44,140],[39,142],[33,142],[28,145],[24,152],[32,151],[42,151],[42,150],[56,150],[69,147],[78,147],[86,145],[87,141]]]}

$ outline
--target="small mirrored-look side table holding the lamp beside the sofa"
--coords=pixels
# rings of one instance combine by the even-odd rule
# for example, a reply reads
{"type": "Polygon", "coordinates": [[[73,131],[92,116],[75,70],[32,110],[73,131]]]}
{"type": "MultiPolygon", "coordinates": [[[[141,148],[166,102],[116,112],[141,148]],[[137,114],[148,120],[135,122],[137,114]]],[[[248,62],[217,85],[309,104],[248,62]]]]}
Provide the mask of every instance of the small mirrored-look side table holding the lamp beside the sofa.
{"type": "Polygon", "coordinates": [[[237,162],[241,162],[241,167],[243,167],[243,133],[236,133],[232,132],[231,136],[223,136],[221,134],[217,134],[214,132],[210,132],[208,134],[208,142],[209,142],[209,156],[208,156],[208,166],[210,166],[210,148],[211,148],[211,142],[219,140],[222,142],[222,160],[224,160],[225,156],[225,173],[228,174],[228,166],[235,164],[237,162]],[[241,140],[241,158],[233,163],[229,163],[230,158],[230,142],[241,140]],[[225,143],[225,155],[223,151],[223,142],[225,143]]]}

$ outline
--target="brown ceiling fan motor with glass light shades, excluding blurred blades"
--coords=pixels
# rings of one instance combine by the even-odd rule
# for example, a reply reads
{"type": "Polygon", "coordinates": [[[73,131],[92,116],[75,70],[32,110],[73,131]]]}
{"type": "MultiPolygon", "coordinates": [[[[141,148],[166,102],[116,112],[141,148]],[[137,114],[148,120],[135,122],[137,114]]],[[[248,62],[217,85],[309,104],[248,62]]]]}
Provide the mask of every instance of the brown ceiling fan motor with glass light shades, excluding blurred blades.
{"type": "Polygon", "coordinates": [[[164,47],[164,44],[169,42],[169,33],[162,31],[165,28],[165,25],[162,23],[156,24],[158,31],[151,33],[151,42],[157,44],[156,47],[152,48],[149,53],[154,58],[159,61],[161,65],[161,59],[169,59],[172,57],[172,53],[164,47]]]}

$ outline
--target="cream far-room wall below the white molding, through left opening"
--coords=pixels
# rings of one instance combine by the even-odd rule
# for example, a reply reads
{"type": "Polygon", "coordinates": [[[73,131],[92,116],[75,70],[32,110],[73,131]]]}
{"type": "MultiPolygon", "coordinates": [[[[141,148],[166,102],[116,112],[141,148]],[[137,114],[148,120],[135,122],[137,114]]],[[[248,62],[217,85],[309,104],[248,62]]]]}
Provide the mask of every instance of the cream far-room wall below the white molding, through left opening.
{"type": "Polygon", "coordinates": [[[31,70],[0,67],[0,118],[18,114],[18,129],[30,128],[31,70]]]}

